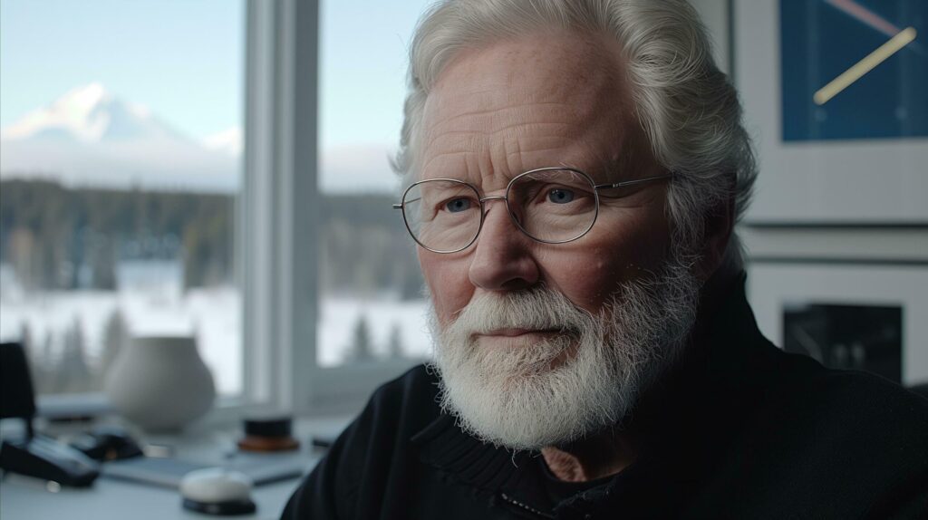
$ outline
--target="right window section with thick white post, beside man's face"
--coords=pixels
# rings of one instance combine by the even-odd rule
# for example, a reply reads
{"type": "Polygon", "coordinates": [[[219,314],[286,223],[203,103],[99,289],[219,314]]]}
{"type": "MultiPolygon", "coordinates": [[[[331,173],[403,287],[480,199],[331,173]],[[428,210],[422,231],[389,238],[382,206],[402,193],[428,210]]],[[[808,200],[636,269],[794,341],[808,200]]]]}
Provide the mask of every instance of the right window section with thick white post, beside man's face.
{"type": "Polygon", "coordinates": [[[245,343],[263,348],[251,349],[245,384],[295,412],[356,409],[428,350],[424,306],[399,290],[418,268],[396,234],[388,166],[424,2],[380,4],[248,4],[243,311],[245,343]],[[333,265],[357,255],[372,258],[333,265]],[[364,336],[367,357],[354,349],[364,336]]]}

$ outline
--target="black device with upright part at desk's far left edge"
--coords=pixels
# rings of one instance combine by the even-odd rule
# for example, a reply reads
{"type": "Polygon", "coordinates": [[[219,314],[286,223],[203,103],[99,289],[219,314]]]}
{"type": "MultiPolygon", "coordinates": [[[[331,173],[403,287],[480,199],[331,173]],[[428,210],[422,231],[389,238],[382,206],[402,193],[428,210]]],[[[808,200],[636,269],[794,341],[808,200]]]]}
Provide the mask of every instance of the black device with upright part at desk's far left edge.
{"type": "Polygon", "coordinates": [[[90,486],[99,476],[97,463],[55,439],[36,435],[34,417],[35,393],[25,350],[19,343],[0,343],[0,419],[26,424],[22,438],[5,439],[0,446],[0,469],[64,486],[90,486]]]}

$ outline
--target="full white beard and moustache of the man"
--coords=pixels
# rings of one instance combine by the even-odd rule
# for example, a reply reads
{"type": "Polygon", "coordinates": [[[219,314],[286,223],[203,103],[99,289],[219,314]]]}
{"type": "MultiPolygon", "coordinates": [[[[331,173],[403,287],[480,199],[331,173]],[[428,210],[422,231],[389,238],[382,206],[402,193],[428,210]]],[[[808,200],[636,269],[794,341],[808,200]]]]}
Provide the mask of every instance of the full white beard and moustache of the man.
{"type": "Polygon", "coordinates": [[[690,334],[701,284],[682,257],[623,286],[598,316],[544,286],[481,293],[444,330],[432,311],[442,409],[471,436],[511,450],[618,425],[690,334]],[[474,337],[505,328],[562,333],[519,349],[483,349],[474,337]]]}

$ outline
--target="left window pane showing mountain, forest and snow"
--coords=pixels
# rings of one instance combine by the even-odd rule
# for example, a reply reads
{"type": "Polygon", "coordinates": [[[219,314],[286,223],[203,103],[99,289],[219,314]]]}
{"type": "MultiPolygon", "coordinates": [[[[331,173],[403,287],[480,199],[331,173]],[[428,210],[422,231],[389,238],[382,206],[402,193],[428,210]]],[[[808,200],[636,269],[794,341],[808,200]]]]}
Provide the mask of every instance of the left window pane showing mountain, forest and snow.
{"type": "Polygon", "coordinates": [[[131,336],[195,335],[238,396],[244,4],[0,9],[0,336],[73,394],[131,336]]]}

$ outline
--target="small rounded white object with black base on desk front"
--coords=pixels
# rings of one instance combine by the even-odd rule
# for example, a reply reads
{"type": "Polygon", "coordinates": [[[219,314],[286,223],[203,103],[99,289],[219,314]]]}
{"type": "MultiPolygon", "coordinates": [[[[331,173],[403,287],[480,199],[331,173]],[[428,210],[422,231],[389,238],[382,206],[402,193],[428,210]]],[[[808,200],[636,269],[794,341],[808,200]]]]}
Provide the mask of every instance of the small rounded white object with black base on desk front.
{"type": "Polygon", "coordinates": [[[180,482],[184,509],[197,513],[251,514],[257,509],[251,501],[251,478],[223,468],[191,471],[180,482]]]}

